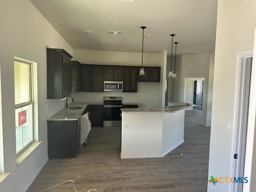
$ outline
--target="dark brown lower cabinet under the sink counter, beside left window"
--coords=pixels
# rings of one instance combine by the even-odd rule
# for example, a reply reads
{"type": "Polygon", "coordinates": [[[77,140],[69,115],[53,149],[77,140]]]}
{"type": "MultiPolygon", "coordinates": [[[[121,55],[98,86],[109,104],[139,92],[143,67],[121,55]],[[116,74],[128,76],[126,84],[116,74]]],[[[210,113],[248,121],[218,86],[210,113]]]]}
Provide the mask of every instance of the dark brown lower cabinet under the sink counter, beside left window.
{"type": "Polygon", "coordinates": [[[80,119],[48,120],[48,157],[76,158],[80,147],[80,119]]]}

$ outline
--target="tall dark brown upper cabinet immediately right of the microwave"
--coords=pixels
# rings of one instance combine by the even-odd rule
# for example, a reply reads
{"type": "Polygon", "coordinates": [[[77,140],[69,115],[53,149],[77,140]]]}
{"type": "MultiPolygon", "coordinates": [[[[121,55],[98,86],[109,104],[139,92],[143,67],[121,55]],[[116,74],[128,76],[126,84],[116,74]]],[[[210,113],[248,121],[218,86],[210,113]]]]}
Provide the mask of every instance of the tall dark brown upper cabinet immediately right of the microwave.
{"type": "Polygon", "coordinates": [[[137,67],[123,68],[123,92],[137,92],[137,67]]]}

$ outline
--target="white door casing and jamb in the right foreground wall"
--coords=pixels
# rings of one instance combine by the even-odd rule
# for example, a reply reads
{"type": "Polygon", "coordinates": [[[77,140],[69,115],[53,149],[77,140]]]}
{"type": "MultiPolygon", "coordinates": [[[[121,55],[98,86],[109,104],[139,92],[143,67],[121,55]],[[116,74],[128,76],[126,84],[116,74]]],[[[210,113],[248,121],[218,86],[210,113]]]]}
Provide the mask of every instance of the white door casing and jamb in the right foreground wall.
{"type": "MultiPolygon", "coordinates": [[[[233,132],[233,153],[232,153],[232,175],[236,178],[244,178],[246,139],[248,129],[248,111],[250,102],[250,85],[252,74],[252,55],[240,54],[238,61],[236,97],[234,110],[234,132],[233,132]]],[[[232,192],[242,192],[243,183],[232,184],[232,192]]]]}

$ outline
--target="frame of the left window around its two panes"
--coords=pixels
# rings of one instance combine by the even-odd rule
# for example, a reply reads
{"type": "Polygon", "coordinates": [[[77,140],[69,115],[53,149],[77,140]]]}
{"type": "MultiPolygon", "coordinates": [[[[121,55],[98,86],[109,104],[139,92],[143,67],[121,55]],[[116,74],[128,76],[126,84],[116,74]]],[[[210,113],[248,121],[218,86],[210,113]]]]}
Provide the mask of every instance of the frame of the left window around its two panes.
{"type": "MultiPolygon", "coordinates": [[[[32,140],[30,142],[28,142],[26,145],[22,146],[22,148],[20,150],[16,150],[16,155],[18,156],[21,152],[23,152],[24,150],[26,150],[26,148],[28,148],[28,146],[30,146],[32,143],[34,143],[34,100],[33,100],[33,71],[32,71],[32,62],[29,62],[29,61],[26,61],[26,60],[23,60],[23,59],[20,59],[20,58],[14,58],[14,62],[20,62],[22,64],[27,64],[28,65],[28,80],[29,80],[29,101],[27,102],[23,102],[23,103],[18,103],[18,104],[15,104],[15,110],[18,109],[18,108],[22,108],[22,107],[25,107],[25,106],[29,106],[31,105],[32,106],[32,140]]],[[[15,70],[15,69],[14,69],[15,70]]],[[[15,85],[14,85],[15,86],[15,85]]],[[[15,112],[14,110],[14,112],[15,112]]],[[[15,118],[15,122],[16,122],[16,118],[15,118]]],[[[23,136],[22,136],[23,138],[23,136]]],[[[16,139],[15,139],[15,142],[16,142],[16,139]]],[[[22,145],[23,145],[23,142],[22,142],[22,145]]]]}

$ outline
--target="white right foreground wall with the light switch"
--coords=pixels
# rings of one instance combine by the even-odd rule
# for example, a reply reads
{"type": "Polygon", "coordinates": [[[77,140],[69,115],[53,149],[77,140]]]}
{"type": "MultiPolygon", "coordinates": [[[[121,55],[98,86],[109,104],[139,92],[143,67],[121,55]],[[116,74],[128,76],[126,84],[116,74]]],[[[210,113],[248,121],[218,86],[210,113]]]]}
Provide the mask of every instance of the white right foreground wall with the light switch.
{"type": "MultiPolygon", "coordinates": [[[[230,176],[232,130],[226,130],[226,121],[233,122],[236,53],[253,48],[255,8],[254,0],[218,1],[209,176],[230,176]]],[[[256,178],[248,177],[254,192],[256,178]]],[[[208,183],[208,192],[228,192],[229,186],[208,183]]]]}

